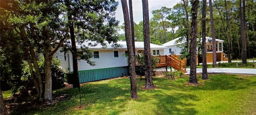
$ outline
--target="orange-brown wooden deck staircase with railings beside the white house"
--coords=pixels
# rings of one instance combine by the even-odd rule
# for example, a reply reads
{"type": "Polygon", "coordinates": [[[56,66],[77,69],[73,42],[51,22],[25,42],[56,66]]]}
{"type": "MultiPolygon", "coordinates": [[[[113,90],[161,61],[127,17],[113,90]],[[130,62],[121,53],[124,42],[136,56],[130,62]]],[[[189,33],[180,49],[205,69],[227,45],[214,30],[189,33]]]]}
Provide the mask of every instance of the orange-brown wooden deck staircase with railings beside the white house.
{"type": "Polygon", "coordinates": [[[153,57],[157,57],[159,59],[159,62],[156,65],[157,67],[173,67],[178,71],[182,71],[182,73],[186,73],[186,63],[181,61],[175,56],[160,55],[160,56],[153,56],[153,57]]]}

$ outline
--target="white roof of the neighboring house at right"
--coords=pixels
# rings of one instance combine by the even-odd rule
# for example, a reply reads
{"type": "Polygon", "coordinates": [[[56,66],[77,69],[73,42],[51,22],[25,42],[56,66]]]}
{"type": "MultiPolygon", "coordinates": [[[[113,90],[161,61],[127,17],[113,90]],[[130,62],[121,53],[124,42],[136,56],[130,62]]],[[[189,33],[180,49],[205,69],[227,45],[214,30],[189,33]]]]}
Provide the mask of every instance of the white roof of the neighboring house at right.
{"type": "MultiPolygon", "coordinates": [[[[183,43],[185,43],[185,40],[186,40],[186,39],[183,39],[182,41],[176,43],[176,41],[179,40],[180,38],[186,38],[186,37],[178,37],[178,38],[175,38],[175,39],[173,39],[173,40],[171,40],[171,41],[169,41],[169,42],[164,43],[162,46],[174,46],[174,45],[178,45],[178,44],[183,44],[183,43]]],[[[220,40],[220,39],[215,39],[215,40],[216,40],[216,42],[217,42],[217,41],[218,41],[218,42],[224,42],[224,40],[220,40]]],[[[202,38],[201,38],[201,41],[202,41],[202,38]]],[[[209,42],[209,41],[212,41],[212,38],[206,37],[206,42],[209,42]]]]}

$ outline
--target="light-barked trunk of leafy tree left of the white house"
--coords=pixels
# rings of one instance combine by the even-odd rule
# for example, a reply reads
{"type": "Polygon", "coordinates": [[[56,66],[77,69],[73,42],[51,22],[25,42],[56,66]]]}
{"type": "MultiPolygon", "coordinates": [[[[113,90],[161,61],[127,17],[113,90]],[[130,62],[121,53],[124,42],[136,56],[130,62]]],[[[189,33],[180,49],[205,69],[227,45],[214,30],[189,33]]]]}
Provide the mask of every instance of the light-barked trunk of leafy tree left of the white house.
{"type": "Polygon", "coordinates": [[[44,27],[43,33],[45,35],[44,39],[44,99],[45,101],[52,100],[52,73],[51,73],[51,63],[52,63],[52,47],[48,28],[44,27]]]}

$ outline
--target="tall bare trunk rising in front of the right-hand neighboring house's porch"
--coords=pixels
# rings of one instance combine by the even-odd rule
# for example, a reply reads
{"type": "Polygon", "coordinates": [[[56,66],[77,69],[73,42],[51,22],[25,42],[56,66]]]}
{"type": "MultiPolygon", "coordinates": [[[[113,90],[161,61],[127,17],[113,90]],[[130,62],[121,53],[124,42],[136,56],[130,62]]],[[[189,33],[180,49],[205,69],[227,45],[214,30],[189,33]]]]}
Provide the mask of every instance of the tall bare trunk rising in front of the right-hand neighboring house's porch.
{"type": "Polygon", "coordinates": [[[216,40],[215,40],[215,28],[214,28],[214,20],[212,14],[212,0],[209,0],[209,7],[210,7],[210,20],[211,20],[211,32],[212,32],[212,67],[217,67],[217,54],[216,54],[216,40]]]}

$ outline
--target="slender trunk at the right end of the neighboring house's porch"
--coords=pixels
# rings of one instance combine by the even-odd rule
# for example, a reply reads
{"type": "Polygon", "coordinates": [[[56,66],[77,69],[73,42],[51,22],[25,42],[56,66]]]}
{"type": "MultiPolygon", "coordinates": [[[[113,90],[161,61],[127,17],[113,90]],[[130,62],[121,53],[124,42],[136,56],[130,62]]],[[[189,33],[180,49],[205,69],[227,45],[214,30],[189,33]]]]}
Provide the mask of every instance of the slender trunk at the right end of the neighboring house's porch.
{"type": "MultiPolygon", "coordinates": [[[[229,33],[229,31],[230,31],[230,26],[229,26],[229,22],[228,22],[228,11],[227,11],[227,0],[225,0],[225,15],[226,15],[226,23],[227,23],[227,29],[226,29],[226,33],[229,33]]],[[[231,55],[230,54],[232,54],[231,52],[231,50],[232,50],[232,43],[231,43],[231,40],[230,40],[230,36],[231,36],[231,34],[230,35],[228,35],[228,34],[226,34],[226,38],[227,38],[227,40],[228,40],[228,63],[231,63],[231,55]]]]}

